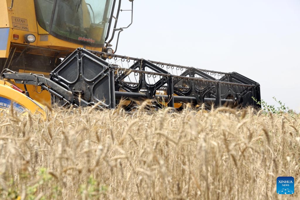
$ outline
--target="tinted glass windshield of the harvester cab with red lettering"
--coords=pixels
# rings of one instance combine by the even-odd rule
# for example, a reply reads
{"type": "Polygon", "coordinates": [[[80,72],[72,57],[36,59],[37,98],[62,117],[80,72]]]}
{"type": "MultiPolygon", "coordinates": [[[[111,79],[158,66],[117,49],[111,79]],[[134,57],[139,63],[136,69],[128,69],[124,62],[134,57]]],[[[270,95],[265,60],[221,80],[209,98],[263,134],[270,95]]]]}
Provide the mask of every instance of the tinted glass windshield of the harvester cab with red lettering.
{"type": "Polygon", "coordinates": [[[45,9],[49,4],[54,6],[53,12],[49,12],[48,7],[41,11],[40,15],[37,14],[38,18],[43,17],[43,23],[38,20],[40,25],[43,24],[42,28],[48,29],[47,31],[53,36],[86,46],[104,46],[113,0],[36,1],[40,10],[45,9]],[[50,19],[49,13],[53,13],[52,21],[45,22],[50,19]]]}

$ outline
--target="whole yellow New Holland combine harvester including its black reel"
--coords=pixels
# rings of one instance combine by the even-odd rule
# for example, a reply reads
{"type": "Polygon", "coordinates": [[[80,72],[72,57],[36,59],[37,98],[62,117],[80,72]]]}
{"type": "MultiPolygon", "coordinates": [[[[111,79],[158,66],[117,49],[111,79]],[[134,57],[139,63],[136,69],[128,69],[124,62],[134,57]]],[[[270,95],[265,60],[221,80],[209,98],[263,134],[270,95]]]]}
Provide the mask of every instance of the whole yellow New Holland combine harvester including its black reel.
{"type": "Polygon", "coordinates": [[[154,108],[260,108],[259,84],[241,74],[116,55],[131,25],[116,28],[120,11],[121,0],[0,0],[0,108],[113,109],[121,99],[127,110],[146,99],[154,108]]]}

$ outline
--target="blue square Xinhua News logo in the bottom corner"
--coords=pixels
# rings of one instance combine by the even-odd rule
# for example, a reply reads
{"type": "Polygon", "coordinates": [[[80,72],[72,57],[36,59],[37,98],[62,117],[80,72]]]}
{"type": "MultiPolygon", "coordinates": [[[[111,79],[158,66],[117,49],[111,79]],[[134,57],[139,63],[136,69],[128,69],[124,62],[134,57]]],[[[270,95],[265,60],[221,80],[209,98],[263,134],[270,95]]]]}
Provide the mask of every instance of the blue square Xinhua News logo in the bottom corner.
{"type": "Polygon", "coordinates": [[[292,176],[277,177],[277,194],[294,194],[294,178],[292,176]]]}

